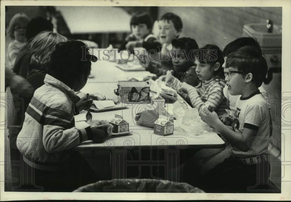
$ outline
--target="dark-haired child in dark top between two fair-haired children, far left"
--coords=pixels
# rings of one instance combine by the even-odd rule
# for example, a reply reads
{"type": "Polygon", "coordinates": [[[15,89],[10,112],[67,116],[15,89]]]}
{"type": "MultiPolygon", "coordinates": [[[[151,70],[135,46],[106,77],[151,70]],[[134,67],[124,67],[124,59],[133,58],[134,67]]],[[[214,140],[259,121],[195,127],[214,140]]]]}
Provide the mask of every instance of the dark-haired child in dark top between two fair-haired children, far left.
{"type": "MultiPolygon", "coordinates": [[[[42,31],[53,31],[53,24],[43,17],[36,17],[31,19],[26,26],[26,40],[29,43],[33,37],[42,31]]],[[[28,58],[29,58],[28,44],[23,46],[15,59],[13,72],[26,78],[28,72],[28,58]]]]}

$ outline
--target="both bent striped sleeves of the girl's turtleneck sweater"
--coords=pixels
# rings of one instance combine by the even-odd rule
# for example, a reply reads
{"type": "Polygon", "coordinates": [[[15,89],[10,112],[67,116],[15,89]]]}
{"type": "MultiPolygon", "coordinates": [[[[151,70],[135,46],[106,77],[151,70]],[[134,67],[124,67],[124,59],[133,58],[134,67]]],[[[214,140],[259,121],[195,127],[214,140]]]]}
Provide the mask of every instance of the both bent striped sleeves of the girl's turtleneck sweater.
{"type": "Polygon", "coordinates": [[[200,95],[197,92],[197,89],[194,87],[188,91],[188,97],[192,106],[197,108],[198,111],[200,111],[203,106],[211,106],[215,111],[225,98],[223,95],[223,86],[220,85],[219,82],[217,82],[216,85],[210,87],[206,97],[207,100],[205,102],[202,101],[200,95]]]}

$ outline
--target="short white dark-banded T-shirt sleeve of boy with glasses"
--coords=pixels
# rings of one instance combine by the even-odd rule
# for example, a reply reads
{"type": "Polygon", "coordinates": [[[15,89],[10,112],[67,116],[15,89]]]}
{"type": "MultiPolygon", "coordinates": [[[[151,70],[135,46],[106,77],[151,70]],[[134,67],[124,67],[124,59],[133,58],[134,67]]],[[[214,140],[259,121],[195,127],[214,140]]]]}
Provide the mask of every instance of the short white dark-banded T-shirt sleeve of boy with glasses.
{"type": "Polygon", "coordinates": [[[262,122],[265,112],[265,108],[260,103],[251,103],[245,112],[244,128],[249,128],[258,131],[262,122]]]}

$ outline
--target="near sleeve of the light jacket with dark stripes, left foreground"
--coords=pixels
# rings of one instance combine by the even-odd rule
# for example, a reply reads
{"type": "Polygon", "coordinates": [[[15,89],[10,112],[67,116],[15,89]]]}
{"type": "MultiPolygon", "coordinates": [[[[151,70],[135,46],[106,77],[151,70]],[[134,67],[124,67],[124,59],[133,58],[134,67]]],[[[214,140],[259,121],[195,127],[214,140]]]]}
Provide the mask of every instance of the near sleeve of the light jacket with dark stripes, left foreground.
{"type": "Polygon", "coordinates": [[[50,106],[43,114],[43,144],[48,153],[70,149],[83,141],[93,138],[90,127],[78,130],[74,117],[65,103],[50,106]]]}

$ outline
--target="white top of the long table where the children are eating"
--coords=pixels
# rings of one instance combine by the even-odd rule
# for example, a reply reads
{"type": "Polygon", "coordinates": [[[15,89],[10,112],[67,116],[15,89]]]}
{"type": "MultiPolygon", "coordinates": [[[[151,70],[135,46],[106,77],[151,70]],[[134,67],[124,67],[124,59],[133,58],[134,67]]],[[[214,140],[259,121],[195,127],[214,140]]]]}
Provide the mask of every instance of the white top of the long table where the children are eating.
{"type": "MultiPolygon", "coordinates": [[[[124,81],[128,77],[145,77],[150,75],[147,71],[141,72],[125,72],[114,66],[114,63],[109,61],[97,61],[92,63],[91,74],[95,75],[95,78],[88,79],[87,84],[81,90],[81,92],[94,93],[99,92],[105,94],[107,97],[116,96],[113,92],[117,88],[117,82],[124,81]]],[[[183,100],[178,97],[178,100],[183,100]]],[[[154,134],[153,128],[136,125],[134,117],[136,114],[136,105],[127,105],[127,108],[123,110],[114,110],[107,112],[91,112],[92,120],[108,120],[110,121],[115,114],[122,115],[125,121],[129,122],[129,130],[132,132],[126,136],[111,137],[104,141],[104,143],[95,143],[93,141],[85,141],[75,147],[76,150],[106,150],[110,149],[115,145],[115,148],[123,147],[127,148],[134,147],[159,147],[164,148],[170,146],[173,148],[221,148],[224,146],[224,141],[215,133],[208,132],[202,135],[188,135],[182,131],[179,127],[175,127],[174,123],[174,134],[169,136],[160,136],[154,134]]],[[[142,107],[142,106],[139,106],[142,107]]],[[[173,114],[173,104],[166,104],[166,109],[170,114],[173,114]]],[[[81,129],[86,126],[84,121],[86,120],[86,111],[81,112],[75,116],[76,127],[81,129]],[[84,125],[85,124],[85,125],[84,125]]]]}

